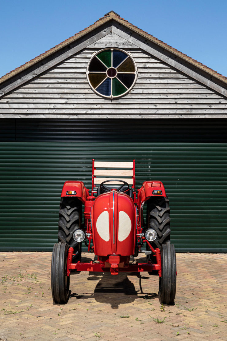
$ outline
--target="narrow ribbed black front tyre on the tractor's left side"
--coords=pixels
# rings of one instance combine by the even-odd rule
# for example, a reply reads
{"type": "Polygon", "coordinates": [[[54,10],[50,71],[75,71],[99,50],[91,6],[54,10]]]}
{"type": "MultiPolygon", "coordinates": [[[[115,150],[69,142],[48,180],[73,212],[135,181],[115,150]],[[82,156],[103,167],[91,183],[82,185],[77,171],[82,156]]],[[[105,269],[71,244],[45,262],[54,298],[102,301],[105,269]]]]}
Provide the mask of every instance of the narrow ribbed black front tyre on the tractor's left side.
{"type": "Polygon", "coordinates": [[[51,290],[54,303],[66,303],[69,297],[67,276],[68,246],[63,242],[54,244],[51,260],[51,290]]]}

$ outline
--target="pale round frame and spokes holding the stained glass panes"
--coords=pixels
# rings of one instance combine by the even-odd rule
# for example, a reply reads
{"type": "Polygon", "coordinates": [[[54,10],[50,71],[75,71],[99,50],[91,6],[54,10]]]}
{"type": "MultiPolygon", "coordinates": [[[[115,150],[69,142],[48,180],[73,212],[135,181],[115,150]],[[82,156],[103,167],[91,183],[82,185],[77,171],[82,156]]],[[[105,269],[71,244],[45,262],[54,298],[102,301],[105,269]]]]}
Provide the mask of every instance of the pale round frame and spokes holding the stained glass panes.
{"type": "MultiPolygon", "coordinates": [[[[97,57],[97,59],[100,61],[100,59],[99,59],[98,57],[97,57]]],[[[126,57],[119,65],[121,65],[126,59],[127,59],[127,57],[126,57]]],[[[111,64],[112,64],[112,63],[113,63],[113,59],[111,58],[111,64]]],[[[110,66],[110,67],[108,68],[104,63],[103,63],[103,65],[107,68],[107,70],[109,70],[109,69],[111,69],[111,68],[114,68],[113,66],[110,66]]],[[[117,68],[119,67],[119,65],[117,66],[117,68]]],[[[117,69],[117,68],[114,68],[114,69],[117,69]]],[[[93,71],[93,72],[91,72],[91,73],[100,73],[100,72],[94,72],[94,71],[93,71]]],[[[104,73],[104,72],[103,72],[103,73],[104,73]]],[[[121,72],[121,73],[124,73],[124,72],[121,72]]],[[[136,80],[137,80],[137,76],[138,76],[138,70],[137,70],[136,63],[135,63],[134,59],[132,58],[132,55],[131,55],[129,52],[127,52],[127,51],[125,51],[125,50],[123,50],[123,49],[117,48],[117,47],[106,47],[106,48],[103,48],[103,49],[101,49],[101,50],[98,50],[96,53],[93,53],[93,54],[92,54],[92,57],[90,58],[90,60],[89,60],[88,63],[87,63],[86,77],[87,77],[88,84],[90,85],[92,91],[93,91],[94,93],[96,93],[97,95],[99,95],[100,97],[106,98],[106,99],[109,99],[109,100],[119,99],[119,98],[121,98],[121,97],[127,95],[127,94],[132,90],[132,88],[134,87],[135,82],[136,82],[136,80]],[[134,72],[126,72],[126,73],[129,73],[129,74],[134,74],[134,75],[135,75],[135,78],[134,78],[133,83],[132,83],[132,85],[130,86],[130,88],[127,88],[126,85],[125,85],[124,83],[122,83],[122,82],[117,78],[117,80],[118,80],[125,88],[127,88],[127,90],[126,90],[124,93],[121,93],[120,95],[117,95],[117,96],[113,96],[113,95],[112,95],[112,80],[113,80],[113,78],[117,77],[117,75],[116,75],[115,77],[109,77],[109,76],[107,75],[107,78],[110,78],[110,79],[111,79],[111,94],[110,94],[110,96],[103,95],[103,94],[101,94],[100,92],[98,92],[98,91],[96,90],[96,89],[97,89],[97,88],[98,88],[98,87],[99,87],[107,78],[105,78],[101,83],[99,83],[99,84],[97,85],[96,88],[94,88],[94,87],[92,86],[90,80],[89,80],[89,77],[88,77],[88,75],[89,75],[89,73],[90,73],[90,71],[89,71],[88,69],[89,69],[89,66],[90,66],[90,64],[91,64],[91,62],[92,62],[92,60],[93,60],[93,58],[95,58],[95,56],[98,55],[99,53],[101,53],[101,52],[103,52],[103,51],[106,51],[106,50],[111,50],[111,53],[113,53],[113,50],[117,50],[117,51],[121,51],[121,52],[125,53],[125,54],[130,58],[130,60],[133,62],[134,66],[135,66],[135,71],[134,71],[134,72]]]]}

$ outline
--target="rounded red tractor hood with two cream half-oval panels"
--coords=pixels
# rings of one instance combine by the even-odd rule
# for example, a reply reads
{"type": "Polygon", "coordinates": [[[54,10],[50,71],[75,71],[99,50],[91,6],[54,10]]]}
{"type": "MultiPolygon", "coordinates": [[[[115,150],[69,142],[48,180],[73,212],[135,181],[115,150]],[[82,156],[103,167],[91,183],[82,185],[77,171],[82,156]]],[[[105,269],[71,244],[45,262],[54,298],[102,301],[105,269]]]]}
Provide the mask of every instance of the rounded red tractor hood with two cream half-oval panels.
{"type": "Polygon", "coordinates": [[[91,218],[96,255],[134,254],[136,208],[130,196],[116,190],[99,195],[91,218]]]}

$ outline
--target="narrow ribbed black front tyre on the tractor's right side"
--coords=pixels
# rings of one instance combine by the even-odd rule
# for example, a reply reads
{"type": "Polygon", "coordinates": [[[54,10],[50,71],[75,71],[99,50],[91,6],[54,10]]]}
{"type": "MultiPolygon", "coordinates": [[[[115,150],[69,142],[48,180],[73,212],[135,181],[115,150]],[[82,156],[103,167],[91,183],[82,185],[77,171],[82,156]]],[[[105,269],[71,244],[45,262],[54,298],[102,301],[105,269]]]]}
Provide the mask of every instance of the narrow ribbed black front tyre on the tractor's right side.
{"type": "Polygon", "coordinates": [[[174,304],[176,295],[176,253],[174,245],[165,243],[161,248],[162,277],[159,277],[159,295],[164,304],[174,304]]]}

